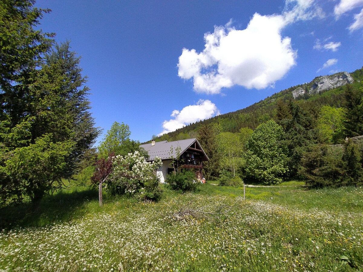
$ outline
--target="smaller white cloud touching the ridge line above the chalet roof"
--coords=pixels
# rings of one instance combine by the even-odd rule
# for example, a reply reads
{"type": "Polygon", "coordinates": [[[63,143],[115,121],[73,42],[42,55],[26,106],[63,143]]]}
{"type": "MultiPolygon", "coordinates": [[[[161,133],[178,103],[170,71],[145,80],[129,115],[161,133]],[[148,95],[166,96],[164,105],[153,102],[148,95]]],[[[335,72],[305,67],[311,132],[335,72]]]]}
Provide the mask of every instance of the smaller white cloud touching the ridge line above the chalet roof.
{"type": "Polygon", "coordinates": [[[164,133],[175,131],[190,123],[208,119],[219,114],[220,112],[214,103],[210,100],[200,99],[195,105],[186,106],[181,111],[172,111],[170,116],[174,119],[165,120],[163,122],[164,130],[159,133],[159,136],[164,133]]]}

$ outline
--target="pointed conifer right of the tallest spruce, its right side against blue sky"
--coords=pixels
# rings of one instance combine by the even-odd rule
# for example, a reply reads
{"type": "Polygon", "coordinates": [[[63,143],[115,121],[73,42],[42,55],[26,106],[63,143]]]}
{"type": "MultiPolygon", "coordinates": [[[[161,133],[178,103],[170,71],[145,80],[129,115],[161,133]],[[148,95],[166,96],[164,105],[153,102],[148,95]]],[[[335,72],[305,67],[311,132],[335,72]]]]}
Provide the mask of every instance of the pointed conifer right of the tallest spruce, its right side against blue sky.
{"type": "Polygon", "coordinates": [[[58,135],[59,141],[72,140],[74,148],[67,158],[65,178],[73,175],[83,159],[86,150],[90,149],[100,130],[95,127],[90,113],[88,95],[90,89],[85,86],[87,78],[83,77],[79,67],[80,58],[70,51],[69,42],[56,45],[55,50],[46,54],[46,64],[41,70],[39,89],[34,88],[35,98],[32,103],[38,114],[32,126],[33,138],[52,132],[58,135]],[[53,93],[44,94],[54,86],[53,93]]]}

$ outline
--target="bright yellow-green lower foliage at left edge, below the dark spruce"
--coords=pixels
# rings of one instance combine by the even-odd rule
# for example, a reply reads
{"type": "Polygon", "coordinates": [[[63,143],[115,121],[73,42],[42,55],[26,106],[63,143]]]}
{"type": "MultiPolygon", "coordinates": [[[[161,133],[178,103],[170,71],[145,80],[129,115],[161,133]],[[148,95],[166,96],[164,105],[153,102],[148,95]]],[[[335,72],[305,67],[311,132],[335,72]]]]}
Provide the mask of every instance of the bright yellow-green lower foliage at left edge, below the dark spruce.
{"type": "Polygon", "coordinates": [[[52,134],[46,134],[34,144],[9,151],[0,168],[3,203],[37,202],[45,193],[60,188],[73,147],[70,140],[54,143],[52,134]]]}

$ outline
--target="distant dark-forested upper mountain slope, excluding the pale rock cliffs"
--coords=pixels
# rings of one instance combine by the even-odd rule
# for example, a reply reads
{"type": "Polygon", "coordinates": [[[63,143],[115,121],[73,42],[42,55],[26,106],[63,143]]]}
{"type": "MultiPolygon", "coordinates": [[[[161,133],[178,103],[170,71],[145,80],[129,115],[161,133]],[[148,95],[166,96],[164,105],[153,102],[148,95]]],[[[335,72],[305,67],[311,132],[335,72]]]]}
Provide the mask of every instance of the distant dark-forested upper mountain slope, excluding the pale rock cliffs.
{"type": "MultiPolygon", "coordinates": [[[[338,73],[339,74],[339,73],[338,73]]],[[[352,85],[358,86],[363,81],[363,67],[350,73],[354,79],[352,85]]],[[[333,75],[332,75],[333,76],[333,75]]],[[[319,77],[320,78],[320,77],[319,77]]],[[[287,102],[291,99],[299,100],[300,102],[307,103],[309,107],[318,111],[322,106],[341,107],[343,99],[343,86],[318,92],[316,94],[309,94],[309,89],[314,85],[317,78],[309,83],[293,86],[277,92],[272,96],[265,98],[259,102],[252,104],[244,109],[221,114],[210,119],[201,120],[196,123],[189,124],[176,131],[166,133],[162,136],[155,137],[156,141],[176,141],[196,137],[197,131],[201,125],[218,123],[221,125],[223,132],[237,133],[240,128],[248,127],[255,129],[259,124],[265,123],[267,120],[276,120],[276,109],[278,101],[287,102]],[[305,93],[294,98],[293,91],[298,88],[305,90],[305,93]]]]}

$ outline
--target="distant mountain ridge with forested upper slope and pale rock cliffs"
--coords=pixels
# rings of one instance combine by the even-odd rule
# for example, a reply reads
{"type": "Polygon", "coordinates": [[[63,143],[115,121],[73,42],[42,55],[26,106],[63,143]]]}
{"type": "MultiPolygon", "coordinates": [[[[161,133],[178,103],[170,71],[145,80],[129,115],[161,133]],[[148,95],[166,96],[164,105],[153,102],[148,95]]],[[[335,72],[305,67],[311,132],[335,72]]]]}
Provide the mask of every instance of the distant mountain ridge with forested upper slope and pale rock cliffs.
{"type": "MultiPolygon", "coordinates": [[[[361,81],[363,81],[363,67],[351,73],[343,71],[332,75],[318,76],[309,83],[291,86],[248,107],[191,123],[175,131],[154,137],[154,139],[156,141],[175,141],[195,138],[200,125],[210,123],[221,124],[224,132],[235,133],[242,127],[254,129],[260,123],[274,119],[278,100],[283,100],[284,102],[289,99],[305,100],[305,102],[314,101],[319,106],[340,107],[343,86],[360,83],[361,81]]],[[[150,142],[151,140],[144,143],[150,142]]]]}

